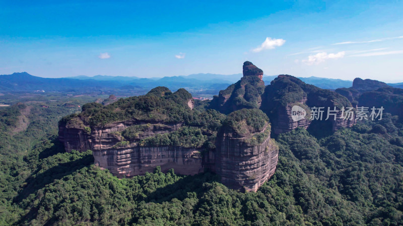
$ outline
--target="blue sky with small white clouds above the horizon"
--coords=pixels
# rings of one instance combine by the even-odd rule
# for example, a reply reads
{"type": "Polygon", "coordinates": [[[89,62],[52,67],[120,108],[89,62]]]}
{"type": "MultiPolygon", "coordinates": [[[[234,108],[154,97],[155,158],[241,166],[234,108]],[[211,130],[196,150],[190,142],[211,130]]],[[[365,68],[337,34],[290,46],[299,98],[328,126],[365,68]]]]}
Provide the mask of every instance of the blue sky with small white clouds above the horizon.
{"type": "Polygon", "coordinates": [[[249,60],[403,81],[403,2],[385,2],[0,1],[0,74],[234,74],[249,60]]]}

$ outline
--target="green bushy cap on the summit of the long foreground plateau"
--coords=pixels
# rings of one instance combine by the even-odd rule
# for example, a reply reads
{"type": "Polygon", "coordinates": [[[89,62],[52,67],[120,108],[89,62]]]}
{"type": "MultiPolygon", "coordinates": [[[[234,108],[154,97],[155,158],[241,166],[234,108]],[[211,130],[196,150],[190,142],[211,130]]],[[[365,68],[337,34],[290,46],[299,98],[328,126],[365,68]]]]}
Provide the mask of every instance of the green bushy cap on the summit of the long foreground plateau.
{"type": "Polygon", "coordinates": [[[106,106],[95,102],[86,103],[82,106],[81,114],[64,117],[61,123],[69,123],[72,118],[88,121],[86,124],[89,126],[100,126],[126,119],[167,123],[189,122],[193,117],[192,111],[187,106],[189,99],[192,97],[185,89],[178,89],[172,93],[167,91],[166,87],[156,87],[146,95],[120,98],[106,106]]]}

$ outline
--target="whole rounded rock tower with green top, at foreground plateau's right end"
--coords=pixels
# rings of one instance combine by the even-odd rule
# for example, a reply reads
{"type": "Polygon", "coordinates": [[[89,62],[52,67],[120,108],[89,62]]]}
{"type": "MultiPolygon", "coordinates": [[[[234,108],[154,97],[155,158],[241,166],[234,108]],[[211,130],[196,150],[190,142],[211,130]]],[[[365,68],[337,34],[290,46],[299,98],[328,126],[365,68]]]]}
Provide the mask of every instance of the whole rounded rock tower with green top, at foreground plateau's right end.
{"type": "Polygon", "coordinates": [[[261,110],[231,113],[217,135],[216,147],[216,172],[230,188],[256,191],[276,170],[279,150],[270,138],[270,124],[261,110]],[[263,122],[252,126],[245,118],[250,116],[263,122]]]}

